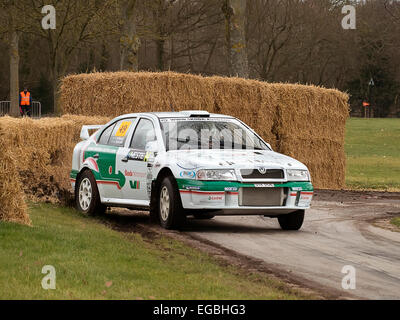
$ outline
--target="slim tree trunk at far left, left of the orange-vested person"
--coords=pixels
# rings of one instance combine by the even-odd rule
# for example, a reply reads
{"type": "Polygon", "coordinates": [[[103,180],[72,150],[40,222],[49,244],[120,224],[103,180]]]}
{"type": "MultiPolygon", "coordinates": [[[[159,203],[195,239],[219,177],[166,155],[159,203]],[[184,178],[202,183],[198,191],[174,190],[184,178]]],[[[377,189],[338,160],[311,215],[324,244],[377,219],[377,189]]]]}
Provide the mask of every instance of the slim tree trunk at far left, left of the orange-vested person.
{"type": "Polygon", "coordinates": [[[10,115],[19,116],[19,37],[17,31],[10,30],[10,115]]]}

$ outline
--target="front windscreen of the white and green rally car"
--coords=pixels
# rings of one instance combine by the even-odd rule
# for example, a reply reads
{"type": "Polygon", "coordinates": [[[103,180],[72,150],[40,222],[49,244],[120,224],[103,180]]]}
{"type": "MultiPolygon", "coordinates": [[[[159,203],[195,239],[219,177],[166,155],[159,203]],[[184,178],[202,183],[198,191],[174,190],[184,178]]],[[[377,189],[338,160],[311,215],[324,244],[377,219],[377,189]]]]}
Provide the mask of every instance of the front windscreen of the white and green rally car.
{"type": "Polygon", "coordinates": [[[167,118],[161,119],[161,129],[167,151],[270,150],[257,135],[236,119],[167,118]]]}

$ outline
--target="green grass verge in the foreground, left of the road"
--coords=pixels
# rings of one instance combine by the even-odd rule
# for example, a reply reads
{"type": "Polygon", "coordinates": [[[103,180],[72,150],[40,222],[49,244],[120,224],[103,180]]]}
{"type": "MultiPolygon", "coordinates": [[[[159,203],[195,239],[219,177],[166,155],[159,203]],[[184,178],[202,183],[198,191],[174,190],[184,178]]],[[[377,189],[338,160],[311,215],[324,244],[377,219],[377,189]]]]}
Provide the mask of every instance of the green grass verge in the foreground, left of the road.
{"type": "Polygon", "coordinates": [[[51,205],[30,215],[33,227],[0,222],[0,299],[307,298],[170,238],[144,241],[51,205]],[[41,287],[44,265],[56,268],[56,290],[41,287]]]}

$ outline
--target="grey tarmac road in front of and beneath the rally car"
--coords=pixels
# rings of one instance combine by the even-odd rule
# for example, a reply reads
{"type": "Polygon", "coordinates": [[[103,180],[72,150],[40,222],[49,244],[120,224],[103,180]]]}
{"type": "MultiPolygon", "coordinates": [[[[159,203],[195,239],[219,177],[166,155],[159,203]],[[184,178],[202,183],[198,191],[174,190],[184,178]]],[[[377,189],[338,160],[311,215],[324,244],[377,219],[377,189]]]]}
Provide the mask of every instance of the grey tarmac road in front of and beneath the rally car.
{"type": "Polygon", "coordinates": [[[298,232],[276,219],[189,219],[184,233],[278,270],[365,299],[400,299],[400,233],[376,227],[400,215],[399,194],[320,192],[298,232]],[[386,196],[385,196],[386,195],[386,196]],[[344,290],[344,266],[356,270],[356,289],[344,290]]]}

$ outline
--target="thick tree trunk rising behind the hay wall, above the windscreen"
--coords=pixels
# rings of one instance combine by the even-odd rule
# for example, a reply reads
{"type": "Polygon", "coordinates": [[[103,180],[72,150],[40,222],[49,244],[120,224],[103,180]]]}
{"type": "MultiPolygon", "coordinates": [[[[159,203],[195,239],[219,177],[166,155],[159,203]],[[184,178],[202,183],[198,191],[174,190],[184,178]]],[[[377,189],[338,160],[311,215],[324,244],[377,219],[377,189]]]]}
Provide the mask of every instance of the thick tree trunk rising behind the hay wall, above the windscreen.
{"type": "Polygon", "coordinates": [[[224,0],[226,45],[231,76],[249,77],[246,47],[246,0],[224,0]]]}

